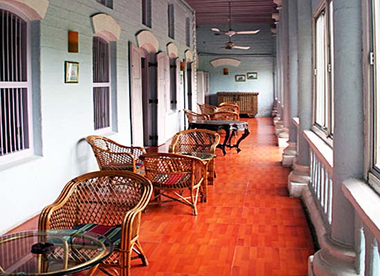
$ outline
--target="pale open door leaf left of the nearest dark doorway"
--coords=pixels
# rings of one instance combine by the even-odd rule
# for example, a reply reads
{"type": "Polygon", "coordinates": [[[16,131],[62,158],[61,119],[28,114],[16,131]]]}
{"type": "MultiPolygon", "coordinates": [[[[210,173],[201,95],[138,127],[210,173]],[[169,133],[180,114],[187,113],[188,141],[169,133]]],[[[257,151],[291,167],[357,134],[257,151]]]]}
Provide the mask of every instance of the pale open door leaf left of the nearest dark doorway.
{"type": "Polygon", "coordinates": [[[143,52],[133,43],[129,43],[130,78],[131,78],[131,132],[133,146],[144,146],[142,115],[142,68],[143,52]]]}

